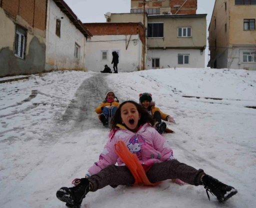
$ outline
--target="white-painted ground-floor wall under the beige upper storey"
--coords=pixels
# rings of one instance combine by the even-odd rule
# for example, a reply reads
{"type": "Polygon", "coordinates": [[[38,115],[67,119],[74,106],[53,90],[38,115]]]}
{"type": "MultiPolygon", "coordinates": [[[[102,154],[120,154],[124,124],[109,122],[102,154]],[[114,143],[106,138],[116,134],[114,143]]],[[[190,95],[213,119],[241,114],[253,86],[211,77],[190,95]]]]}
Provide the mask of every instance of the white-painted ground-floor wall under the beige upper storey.
{"type": "Polygon", "coordinates": [[[152,68],[152,58],[160,58],[159,68],[204,68],[205,55],[199,49],[147,49],[147,69],[152,68]],[[189,54],[189,63],[178,64],[178,54],[189,54]]]}

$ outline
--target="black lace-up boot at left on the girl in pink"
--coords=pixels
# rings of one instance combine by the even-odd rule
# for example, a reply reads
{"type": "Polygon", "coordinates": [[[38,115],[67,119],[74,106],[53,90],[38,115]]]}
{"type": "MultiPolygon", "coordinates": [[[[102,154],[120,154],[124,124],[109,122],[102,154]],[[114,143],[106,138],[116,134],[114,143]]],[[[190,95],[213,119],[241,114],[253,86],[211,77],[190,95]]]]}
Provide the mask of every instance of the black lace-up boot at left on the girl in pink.
{"type": "Polygon", "coordinates": [[[81,205],[82,199],[89,192],[90,183],[87,178],[78,179],[78,185],[74,187],[62,187],[56,192],[59,200],[66,202],[66,206],[70,208],[78,208],[81,205]]]}

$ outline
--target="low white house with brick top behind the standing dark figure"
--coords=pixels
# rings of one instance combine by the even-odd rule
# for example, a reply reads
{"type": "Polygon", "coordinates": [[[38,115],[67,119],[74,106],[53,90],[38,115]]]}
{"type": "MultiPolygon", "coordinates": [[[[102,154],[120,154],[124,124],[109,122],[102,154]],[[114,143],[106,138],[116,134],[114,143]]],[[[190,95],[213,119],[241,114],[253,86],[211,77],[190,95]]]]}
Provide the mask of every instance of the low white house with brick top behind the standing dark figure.
{"type": "Polygon", "coordinates": [[[116,51],[119,55],[118,72],[141,70],[143,67],[143,26],[141,23],[107,22],[84,23],[84,25],[93,34],[93,37],[88,38],[85,44],[87,70],[99,72],[107,64],[113,72],[112,51],[116,51]]]}

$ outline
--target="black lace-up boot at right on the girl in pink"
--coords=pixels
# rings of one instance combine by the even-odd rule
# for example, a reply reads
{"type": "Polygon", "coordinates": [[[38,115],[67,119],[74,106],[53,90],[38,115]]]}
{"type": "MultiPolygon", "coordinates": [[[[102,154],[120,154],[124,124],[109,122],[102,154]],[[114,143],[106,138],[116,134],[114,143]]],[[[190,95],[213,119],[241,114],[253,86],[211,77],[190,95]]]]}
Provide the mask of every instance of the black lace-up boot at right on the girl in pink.
{"type": "Polygon", "coordinates": [[[208,191],[214,194],[219,202],[223,202],[237,193],[237,190],[229,185],[226,185],[217,179],[211,177],[210,175],[203,175],[202,185],[206,189],[208,199],[210,199],[208,191]]]}

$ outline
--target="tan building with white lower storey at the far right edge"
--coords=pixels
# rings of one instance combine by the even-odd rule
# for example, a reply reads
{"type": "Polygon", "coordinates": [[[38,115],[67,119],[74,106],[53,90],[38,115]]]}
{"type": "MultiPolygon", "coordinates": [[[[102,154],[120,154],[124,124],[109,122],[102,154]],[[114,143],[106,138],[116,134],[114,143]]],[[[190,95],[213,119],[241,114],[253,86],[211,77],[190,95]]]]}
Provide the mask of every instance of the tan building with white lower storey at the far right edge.
{"type": "Polygon", "coordinates": [[[256,70],[256,0],[215,0],[209,31],[211,68],[256,70]]]}

